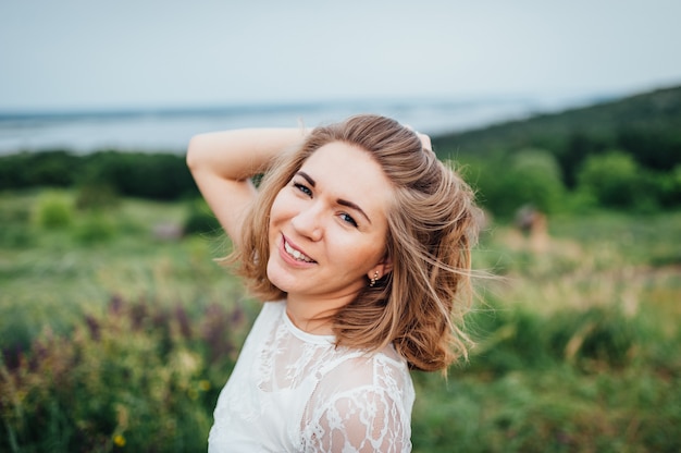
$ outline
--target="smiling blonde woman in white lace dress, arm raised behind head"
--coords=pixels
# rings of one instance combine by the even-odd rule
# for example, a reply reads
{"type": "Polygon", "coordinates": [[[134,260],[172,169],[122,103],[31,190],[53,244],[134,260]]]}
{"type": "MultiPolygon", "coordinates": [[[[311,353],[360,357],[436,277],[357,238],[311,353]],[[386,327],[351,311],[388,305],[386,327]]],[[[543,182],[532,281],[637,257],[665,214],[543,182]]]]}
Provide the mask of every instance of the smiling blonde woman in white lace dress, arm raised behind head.
{"type": "Polygon", "coordinates": [[[409,369],[466,355],[468,185],[426,136],[377,115],[202,134],[187,162],[237,272],[268,301],[209,451],[410,451],[409,369]]]}

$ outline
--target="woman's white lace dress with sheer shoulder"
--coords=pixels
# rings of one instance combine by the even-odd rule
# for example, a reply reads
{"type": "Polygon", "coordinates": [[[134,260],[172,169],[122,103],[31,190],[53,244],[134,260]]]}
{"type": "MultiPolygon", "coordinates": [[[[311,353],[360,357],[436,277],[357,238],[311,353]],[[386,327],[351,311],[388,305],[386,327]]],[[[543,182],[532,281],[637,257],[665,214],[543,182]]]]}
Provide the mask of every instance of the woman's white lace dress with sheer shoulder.
{"type": "Polygon", "coordinates": [[[264,304],[222,390],[216,452],[409,452],[414,392],[389,346],[367,355],[296,328],[264,304]]]}

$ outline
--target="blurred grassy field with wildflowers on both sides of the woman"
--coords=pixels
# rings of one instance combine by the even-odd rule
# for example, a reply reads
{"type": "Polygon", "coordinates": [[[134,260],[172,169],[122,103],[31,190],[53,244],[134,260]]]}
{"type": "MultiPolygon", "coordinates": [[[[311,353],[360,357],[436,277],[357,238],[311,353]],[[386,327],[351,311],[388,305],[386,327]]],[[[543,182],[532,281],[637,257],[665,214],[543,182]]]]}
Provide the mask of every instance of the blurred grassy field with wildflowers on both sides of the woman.
{"type": "MultiPolygon", "coordinates": [[[[164,237],[188,201],[76,197],[0,194],[0,451],[205,451],[258,309],[227,244],[164,237]]],[[[678,211],[490,225],[478,345],[414,372],[414,451],[681,451],[679,238],[678,211]]]]}

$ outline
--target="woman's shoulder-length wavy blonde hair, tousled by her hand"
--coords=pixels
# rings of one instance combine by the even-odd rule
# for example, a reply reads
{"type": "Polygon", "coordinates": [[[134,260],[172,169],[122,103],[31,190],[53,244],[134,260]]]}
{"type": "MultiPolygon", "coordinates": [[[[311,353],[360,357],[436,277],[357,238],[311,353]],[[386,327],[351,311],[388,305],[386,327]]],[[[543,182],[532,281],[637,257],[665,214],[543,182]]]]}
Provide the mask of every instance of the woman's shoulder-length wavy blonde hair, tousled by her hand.
{"type": "Polygon", "coordinates": [[[253,295],[265,301],[286,296],[267,277],[270,209],[306,159],[332,142],[369,152],[394,189],[386,237],[393,270],[332,315],[337,345],[376,351],[393,343],[411,368],[444,370],[467,356],[471,344],[462,326],[472,299],[478,208],[463,180],[398,122],[352,117],[314,128],[299,148],[283,154],[262,179],[242,246],[230,261],[237,262],[236,272],[253,295]]]}

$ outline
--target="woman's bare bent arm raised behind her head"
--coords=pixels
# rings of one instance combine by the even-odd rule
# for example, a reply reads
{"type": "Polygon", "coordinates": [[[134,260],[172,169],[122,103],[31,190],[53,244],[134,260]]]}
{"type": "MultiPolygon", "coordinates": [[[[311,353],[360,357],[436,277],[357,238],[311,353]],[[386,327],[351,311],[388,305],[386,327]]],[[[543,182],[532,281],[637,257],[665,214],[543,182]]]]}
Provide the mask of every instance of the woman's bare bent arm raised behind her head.
{"type": "Polygon", "coordinates": [[[233,241],[239,241],[244,215],[256,196],[250,177],[273,157],[305,138],[296,128],[244,128],[196,135],[187,166],[203,198],[233,241]]]}

